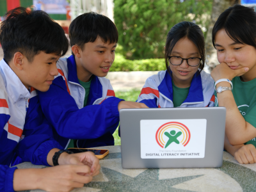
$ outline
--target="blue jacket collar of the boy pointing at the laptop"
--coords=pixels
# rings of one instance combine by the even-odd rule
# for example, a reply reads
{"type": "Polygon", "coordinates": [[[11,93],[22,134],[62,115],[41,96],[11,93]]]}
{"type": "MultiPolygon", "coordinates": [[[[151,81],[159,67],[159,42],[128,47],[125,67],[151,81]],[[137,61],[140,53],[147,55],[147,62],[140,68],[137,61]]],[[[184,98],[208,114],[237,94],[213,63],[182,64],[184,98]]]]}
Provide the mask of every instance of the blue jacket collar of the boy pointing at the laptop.
{"type": "MultiPolygon", "coordinates": [[[[68,81],[80,84],[77,78],[76,60],[74,56],[67,58],[68,65],[68,81]]],[[[102,84],[97,76],[92,75],[90,93],[87,100],[87,105],[92,105],[93,102],[102,97],[102,84]]]]}

